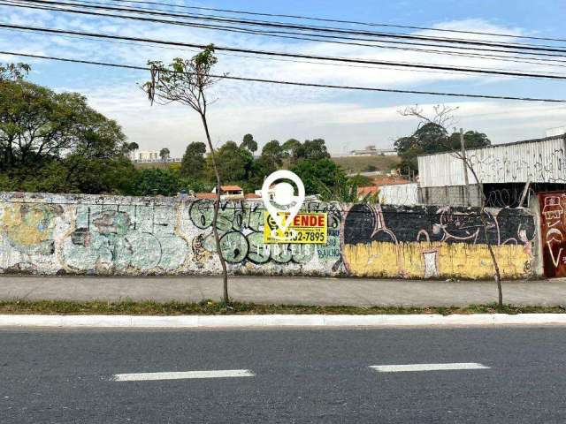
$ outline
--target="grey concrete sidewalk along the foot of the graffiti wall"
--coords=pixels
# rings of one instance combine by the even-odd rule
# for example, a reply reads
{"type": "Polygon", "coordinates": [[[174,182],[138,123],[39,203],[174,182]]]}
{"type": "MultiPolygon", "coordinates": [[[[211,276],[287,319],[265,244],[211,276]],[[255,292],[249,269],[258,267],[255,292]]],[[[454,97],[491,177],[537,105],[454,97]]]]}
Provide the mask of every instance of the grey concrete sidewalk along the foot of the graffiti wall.
{"type": "MultiPolygon", "coordinates": [[[[467,306],[497,299],[493,281],[371,280],[231,276],[233,300],[349,306],[467,306]]],[[[179,300],[221,299],[220,277],[0,276],[0,299],[179,300]]],[[[505,303],[566,305],[566,279],[503,283],[505,303]]]]}

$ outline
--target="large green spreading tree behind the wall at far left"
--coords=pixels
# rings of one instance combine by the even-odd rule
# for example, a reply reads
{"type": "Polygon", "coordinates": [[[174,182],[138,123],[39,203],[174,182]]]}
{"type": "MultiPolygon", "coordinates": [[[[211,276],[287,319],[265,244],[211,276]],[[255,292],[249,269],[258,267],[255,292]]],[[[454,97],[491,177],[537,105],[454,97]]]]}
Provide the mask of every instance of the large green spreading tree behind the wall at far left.
{"type": "Polygon", "coordinates": [[[116,121],[82,95],[26,81],[27,65],[0,68],[0,180],[33,192],[127,191],[134,167],[116,121]]]}

